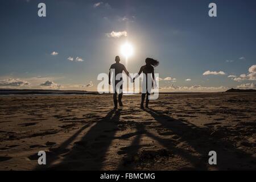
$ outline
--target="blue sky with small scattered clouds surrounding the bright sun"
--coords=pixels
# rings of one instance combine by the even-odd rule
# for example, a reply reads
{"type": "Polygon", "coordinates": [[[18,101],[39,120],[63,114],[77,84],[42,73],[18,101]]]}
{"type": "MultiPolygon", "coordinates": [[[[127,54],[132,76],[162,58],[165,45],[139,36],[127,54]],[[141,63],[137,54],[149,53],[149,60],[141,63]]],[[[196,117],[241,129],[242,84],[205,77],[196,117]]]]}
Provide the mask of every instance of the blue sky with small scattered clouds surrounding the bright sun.
{"type": "Polygon", "coordinates": [[[125,42],[134,47],[129,72],[146,57],[159,60],[163,91],[255,88],[255,7],[250,0],[1,1],[0,88],[96,90],[97,75],[108,73],[125,42]],[[211,2],[217,17],[208,16],[211,2]]]}

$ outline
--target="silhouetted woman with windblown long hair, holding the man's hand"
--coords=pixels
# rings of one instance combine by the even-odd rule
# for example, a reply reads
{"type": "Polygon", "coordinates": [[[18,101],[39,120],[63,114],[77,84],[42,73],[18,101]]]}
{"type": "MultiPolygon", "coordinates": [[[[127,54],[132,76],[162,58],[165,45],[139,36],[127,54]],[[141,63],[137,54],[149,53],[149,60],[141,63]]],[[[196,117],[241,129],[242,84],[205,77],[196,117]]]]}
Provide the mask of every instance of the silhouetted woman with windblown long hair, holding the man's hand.
{"type": "MultiPolygon", "coordinates": [[[[148,108],[148,102],[149,102],[148,96],[150,95],[151,88],[153,86],[153,80],[155,82],[154,67],[159,65],[159,61],[154,60],[152,58],[147,58],[145,60],[145,62],[146,62],[146,65],[143,65],[141,67],[141,69],[139,69],[138,75],[133,78],[133,81],[134,81],[143,72],[141,109],[144,109],[143,104],[144,104],[144,100],[145,100],[146,94],[147,94],[147,97],[146,97],[146,107],[148,108]],[[151,84],[151,86],[149,86],[148,84],[151,84]]],[[[155,82],[155,84],[156,84],[156,82],[155,82]]]]}

